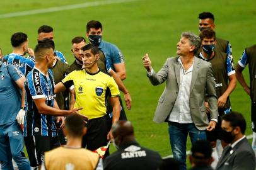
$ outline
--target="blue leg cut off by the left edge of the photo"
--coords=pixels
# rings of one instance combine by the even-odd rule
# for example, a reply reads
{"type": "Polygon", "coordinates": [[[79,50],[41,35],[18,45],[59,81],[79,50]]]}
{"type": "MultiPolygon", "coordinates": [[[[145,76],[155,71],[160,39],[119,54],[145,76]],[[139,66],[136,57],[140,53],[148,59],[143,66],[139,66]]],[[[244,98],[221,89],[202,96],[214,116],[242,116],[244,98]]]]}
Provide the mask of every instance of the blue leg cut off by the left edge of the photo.
{"type": "Polygon", "coordinates": [[[6,133],[6,125],[0,126],[0,162],[1,169],[13,170],[13,163],[11,162],[11,149],[8,140],[8,134],[6,133]]]}

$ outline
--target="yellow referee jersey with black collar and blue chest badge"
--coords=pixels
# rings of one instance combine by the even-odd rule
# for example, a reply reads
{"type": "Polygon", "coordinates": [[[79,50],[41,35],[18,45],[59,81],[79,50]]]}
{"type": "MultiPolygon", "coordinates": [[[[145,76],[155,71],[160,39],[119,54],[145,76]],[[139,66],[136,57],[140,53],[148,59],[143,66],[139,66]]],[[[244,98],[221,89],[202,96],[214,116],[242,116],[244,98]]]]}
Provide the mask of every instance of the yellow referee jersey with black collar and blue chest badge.
{"type": "Polygon", "coordinates": [[[80,111],[89,119],[100,118],[106,115],[106,95],[119,96],[119,88],[113,77],[98,71],[95,74],[81,71],[73,71],[61,81],[66,88],[74,85],[76,103],[74,108],[83,107],[80,111]]]}

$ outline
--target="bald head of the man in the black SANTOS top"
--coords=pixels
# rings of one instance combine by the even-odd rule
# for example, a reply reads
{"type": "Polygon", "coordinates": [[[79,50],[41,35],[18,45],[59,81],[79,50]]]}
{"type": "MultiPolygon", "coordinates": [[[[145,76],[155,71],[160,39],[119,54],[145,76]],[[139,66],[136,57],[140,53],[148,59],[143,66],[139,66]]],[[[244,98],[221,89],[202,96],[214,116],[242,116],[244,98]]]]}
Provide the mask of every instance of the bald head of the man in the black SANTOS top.
{"type": "Polygon", "coordinates": [[[125,142],[135,140],[134,128],[132,123],[125,120],[120,120],[112,125],[112,134],[116,145],[121,145],[125,142]]]}

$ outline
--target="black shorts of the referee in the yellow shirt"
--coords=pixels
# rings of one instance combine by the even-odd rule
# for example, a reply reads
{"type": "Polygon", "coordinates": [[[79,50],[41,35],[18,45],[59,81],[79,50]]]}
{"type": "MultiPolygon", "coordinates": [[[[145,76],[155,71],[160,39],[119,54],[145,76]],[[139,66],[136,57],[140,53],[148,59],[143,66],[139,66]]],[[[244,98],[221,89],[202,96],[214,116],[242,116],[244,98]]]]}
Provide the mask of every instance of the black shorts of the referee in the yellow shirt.
{"type": "MultiPolygon", "coordinates": [[[[110,131],[108,126],[108,115],[100,118],[93,118],[86,124],[87,133],[83,136],[82,147],[89,150],[96,150],[108,144],[107,134],[110,131]]],[[[107,150],[105,156],[109,155],[107,150]]]]}

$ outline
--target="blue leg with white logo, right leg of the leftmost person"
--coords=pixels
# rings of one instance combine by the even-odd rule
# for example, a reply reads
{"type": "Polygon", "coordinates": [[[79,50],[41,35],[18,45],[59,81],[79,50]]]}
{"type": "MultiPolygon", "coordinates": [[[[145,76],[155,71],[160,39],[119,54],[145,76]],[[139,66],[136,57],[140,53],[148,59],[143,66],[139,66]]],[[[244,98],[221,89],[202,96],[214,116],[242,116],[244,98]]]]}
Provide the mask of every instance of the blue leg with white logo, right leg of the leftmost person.
{"type": "Polygon", "coordinates": [[[24,154],[23,132],[18,123],[13,122],[8,127],[8,138],[11,148],[11,154],[20,170],[30,169],[30,162],[24,154]]]}

